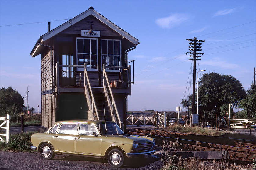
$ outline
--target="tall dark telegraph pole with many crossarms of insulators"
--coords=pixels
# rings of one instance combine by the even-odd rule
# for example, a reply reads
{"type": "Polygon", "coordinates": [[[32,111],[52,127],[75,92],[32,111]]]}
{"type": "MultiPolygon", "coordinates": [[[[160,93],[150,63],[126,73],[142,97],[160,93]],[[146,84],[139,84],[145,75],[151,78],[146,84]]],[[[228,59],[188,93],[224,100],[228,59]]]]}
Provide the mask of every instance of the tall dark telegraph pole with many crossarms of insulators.
{"type": "MultiPolygon", "coordinates": [[[[197,60],[201,60],[201,59],[197,59],[198,57],[201,56],[197,56],[197,54],[203,55],[204,53],[197,53],[197,51],[202,51],[202,47],[200,45],[202,45],[202,43],[200,42],[204,42],[204,40],[197,40],[197,37],[194,37],[194,39],[187,39],[187,41],[191,41],[189,44],[189,51],[186,54],[193,54],[193,55],[189,55],[190,57],[193,58],[189,58],[189,60],[193,60],[194,62],[194,66],[193,66],[193,94],[192,94],[192,114],[195,114],[195,91],[196,91],[196,61],[197,60]],[[197,46],[198,45],[198,46],[197,46]]],[[[197,82],[198,83],[198,82],[197,82]]],[[[198,92],[197,92],[198,93],[198,92]]]]}

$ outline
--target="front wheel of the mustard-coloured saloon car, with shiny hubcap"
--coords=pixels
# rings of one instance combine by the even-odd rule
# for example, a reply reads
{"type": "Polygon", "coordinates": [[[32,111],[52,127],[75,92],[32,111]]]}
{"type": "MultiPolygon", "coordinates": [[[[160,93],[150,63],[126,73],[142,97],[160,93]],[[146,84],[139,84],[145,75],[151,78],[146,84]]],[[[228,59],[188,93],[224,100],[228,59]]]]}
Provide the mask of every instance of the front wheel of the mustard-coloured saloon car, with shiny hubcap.
{"type": "Polygon", "coordinates": [[[112,149],[108,153],[108,163],[112,167],[119,168],[123,165],[124,162],[124,156],[123,153],[119,149],[112,149]]]}

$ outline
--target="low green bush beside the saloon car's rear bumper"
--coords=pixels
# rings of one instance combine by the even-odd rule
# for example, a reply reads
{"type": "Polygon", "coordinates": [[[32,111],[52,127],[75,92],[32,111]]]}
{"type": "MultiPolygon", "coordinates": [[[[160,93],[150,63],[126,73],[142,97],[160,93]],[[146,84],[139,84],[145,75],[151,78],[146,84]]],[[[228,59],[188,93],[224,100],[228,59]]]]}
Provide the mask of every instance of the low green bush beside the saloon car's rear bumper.
{"type": "Polygon", "coordinates": [[[26,132],[22,134],[13,134],[10,136],[10,141],[6,150],[11,151],[31,151],[30,146],[31,143],[31,136],[35,132],[26,132]]]}

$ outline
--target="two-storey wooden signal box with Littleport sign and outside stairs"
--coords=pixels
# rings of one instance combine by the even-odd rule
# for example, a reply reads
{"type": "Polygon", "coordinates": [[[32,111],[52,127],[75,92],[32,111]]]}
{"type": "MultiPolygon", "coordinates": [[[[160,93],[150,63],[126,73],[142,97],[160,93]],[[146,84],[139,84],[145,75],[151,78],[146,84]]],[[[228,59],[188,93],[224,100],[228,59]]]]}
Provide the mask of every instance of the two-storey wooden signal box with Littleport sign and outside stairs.
{"type": "Polygon", "coordinates": [[[40,36],[30,55],[41,54],[42,125],[104,120],[105,111],[106,120],[126,126],[133,83],[127,55],[137,44],[92,7],[40,36]]]}

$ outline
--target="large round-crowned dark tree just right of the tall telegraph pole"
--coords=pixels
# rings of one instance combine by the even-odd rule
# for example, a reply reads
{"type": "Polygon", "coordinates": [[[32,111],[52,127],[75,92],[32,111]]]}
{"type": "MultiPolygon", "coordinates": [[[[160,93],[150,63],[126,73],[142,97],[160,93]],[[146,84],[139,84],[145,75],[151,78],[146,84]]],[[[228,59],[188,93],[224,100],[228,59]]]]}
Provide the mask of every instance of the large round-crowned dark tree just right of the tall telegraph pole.
{"type": "Polygon", "coordinates": [[[237,105],[246,92],[242,84],[230,75],[203,74],[198,82],[199,105],[217,114],[225,114],[229,103],[237,105]]]}

